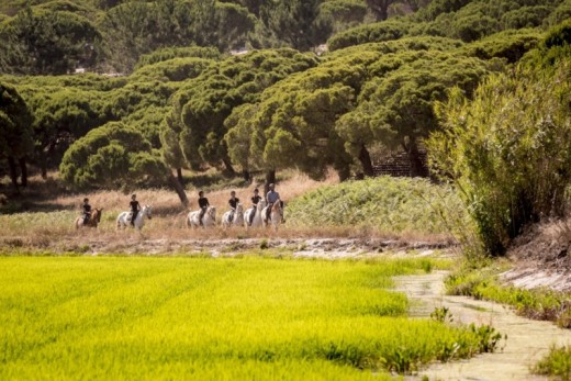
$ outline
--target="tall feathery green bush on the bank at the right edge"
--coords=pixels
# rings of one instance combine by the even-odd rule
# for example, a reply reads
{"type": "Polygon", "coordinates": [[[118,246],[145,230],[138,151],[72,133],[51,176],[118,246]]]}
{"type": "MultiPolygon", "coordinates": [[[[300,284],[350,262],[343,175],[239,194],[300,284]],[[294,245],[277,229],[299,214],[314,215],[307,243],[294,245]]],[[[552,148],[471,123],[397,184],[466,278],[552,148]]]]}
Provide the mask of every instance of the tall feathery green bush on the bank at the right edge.
{"type": "Polygon", "coordinates": [[[432,163],[456,182],[482,247],[501,255],[526,224],[561,214],[571,182],[571,61],[490,77],[437,103],[432,163]]]}

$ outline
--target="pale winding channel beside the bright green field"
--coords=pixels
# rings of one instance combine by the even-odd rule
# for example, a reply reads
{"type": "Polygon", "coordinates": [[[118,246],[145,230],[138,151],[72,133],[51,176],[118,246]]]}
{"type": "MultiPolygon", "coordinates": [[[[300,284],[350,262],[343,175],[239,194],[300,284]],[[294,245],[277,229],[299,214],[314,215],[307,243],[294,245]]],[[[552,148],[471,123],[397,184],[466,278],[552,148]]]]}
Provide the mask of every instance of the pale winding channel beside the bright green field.
{"type": "Polygon", "coordinates": [[[558,328],[552,323],[530,321],[516,316],[508,309],[466,296],[444,295],[445,272],[415,277],[398,277],[398,290],[412,300],[412,316],[428,316],[435,307],[446,306],[455,322],[463,324],[491,324],[507,340],[503,350],[483,354],[475,358],[451,363],[435,363],[419,372],[419,380],[479,380],[479,381],[535,381],[548,378],[530,374],[529,367],[542,358],[551,345],[571,344],[571,330],[558,328]]]}

